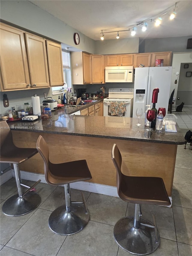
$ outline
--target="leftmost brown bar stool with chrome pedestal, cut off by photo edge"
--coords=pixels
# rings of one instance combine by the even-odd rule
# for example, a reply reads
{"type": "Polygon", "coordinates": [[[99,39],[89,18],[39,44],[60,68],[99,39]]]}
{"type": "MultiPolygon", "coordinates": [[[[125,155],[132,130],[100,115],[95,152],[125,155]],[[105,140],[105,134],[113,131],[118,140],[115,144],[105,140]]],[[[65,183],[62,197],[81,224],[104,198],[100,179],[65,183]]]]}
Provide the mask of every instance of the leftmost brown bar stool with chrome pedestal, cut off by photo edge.
{"type": "Polygon", "coordinates": [[[17,185],[18,194],[13,195],[5,201],[2,206],[2,211],[8,216],[21,216],[34,210],[41,202],[40,195],[35,191],[30,191],[41,180],[38,180],[31,187],[22,184],[18,164],[26,161],[38,153],[37,149],[33,148],[18,148],[13,143],[11,129],[6,121],[0,122],[0,140],[1,140],[1,163],[13,164],[15,180],[17,185]],[[22,187],[28,188],[22,192],[22,187]]]}

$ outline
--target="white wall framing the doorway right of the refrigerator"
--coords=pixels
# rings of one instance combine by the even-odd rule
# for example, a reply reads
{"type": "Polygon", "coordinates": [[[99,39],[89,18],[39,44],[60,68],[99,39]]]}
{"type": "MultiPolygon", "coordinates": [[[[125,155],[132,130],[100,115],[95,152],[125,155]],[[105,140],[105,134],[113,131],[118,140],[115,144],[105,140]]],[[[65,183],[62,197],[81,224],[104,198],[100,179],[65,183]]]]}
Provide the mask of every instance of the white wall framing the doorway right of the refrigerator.
{"type": "MultiPolygon", "coordinates": [[[[177,84],[175,84],[175,80],[177,79],[176,73],[180,73],[180,67],[181,63],[191,63],[192,62],[192,52],[189,53],[173,53],[173,71],[172,71],[172,78],[171,78],[171,88],[170,88],[170,94],[175,89],[174,97],[177,96],[177,90],[178,90],[178,83],[179,78],[177,81],[177,84]]],[[[173,104],[173,108],[176,107],[176,102],[173,104]]]]}

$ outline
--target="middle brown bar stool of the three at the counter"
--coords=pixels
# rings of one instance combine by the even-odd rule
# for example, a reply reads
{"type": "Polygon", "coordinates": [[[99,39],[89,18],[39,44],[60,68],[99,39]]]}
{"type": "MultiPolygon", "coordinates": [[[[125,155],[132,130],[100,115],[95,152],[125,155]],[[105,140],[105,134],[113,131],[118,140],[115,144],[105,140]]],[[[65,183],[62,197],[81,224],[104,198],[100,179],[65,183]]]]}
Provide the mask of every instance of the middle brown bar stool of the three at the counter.
{"type": "Polygon", "coordinates": [[[46,182],[50,185],[64,185],[65,205],[59,206],[49,216],[50,229],[59,235],[72,235],[81,231],[89,221],[89,212],[82,194],[82,202],[71,202],[69,184],[91,179],[86,160],[53,164],[49,161],[49,148],[40,135],[37,149],[44,160],[46,182]]]}

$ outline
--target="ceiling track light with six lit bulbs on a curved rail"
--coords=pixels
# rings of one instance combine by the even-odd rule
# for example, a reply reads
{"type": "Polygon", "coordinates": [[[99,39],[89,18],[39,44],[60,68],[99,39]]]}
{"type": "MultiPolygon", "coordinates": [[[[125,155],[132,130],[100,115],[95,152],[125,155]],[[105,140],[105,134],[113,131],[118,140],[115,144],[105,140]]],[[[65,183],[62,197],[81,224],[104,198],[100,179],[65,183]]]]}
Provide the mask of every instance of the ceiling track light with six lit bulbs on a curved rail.
{"type": "MultiPolygon", "coordinates": [[[[119,32],[130,31],[131,29],[133,29],[133,30],[131,31],[131,35],[134,36],[134,35],[136,34],[136,32],[135,32],[135,28],[136,28],[136,27],[143,25],[143,26],[142,26],[142,31],[145,32],[145,31],[147,30],[147,22],[152,22],[152,21],[154,21],[154,20],[155,20],[155,26],[159,26],[159,25],[161,24],[161,20],[162,20],[161,17],[162,17],[163,15],[167,14],[167,13],[170,13],[171,11],[173,11],[173,13],[170,15],[170,20],[173,20],[173,19],[175,18],[175,15],[176,15],[176,12],[175,12],[175,9],[176,9],[176,8],[177,8],[177,3],[175,3],[175,7],[174,7],[174,8],[172,8],[172,9],[169,10],[169,11],[166,11],[164,14],[161,14],[161,15],[155,17],[155,18],[149,18],[148,20],[136,22],[136,25],[133,26],[133,27],[131,27],[131,28],[129,28],[129,29],[120,30],[120,31],[108,31],[108,32],[106,31],[105,33],[115,33],[115,32],[116,32],[116,33],[117,33],[116,38],[119,39],[119,32]]],[[[103,33],[103,30],[101,30],[101,33],[100,33],[100,34],[102,34],[101,40],[104,40],[104,33],[103,33]]]]}

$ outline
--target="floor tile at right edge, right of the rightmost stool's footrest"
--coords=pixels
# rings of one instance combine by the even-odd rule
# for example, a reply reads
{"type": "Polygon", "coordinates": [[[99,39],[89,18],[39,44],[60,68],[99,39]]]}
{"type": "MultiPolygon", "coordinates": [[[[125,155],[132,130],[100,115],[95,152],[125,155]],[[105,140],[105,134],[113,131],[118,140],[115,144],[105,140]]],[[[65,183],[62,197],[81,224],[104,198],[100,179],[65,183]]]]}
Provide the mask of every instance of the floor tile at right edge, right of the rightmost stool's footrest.
{"type": "Polygon", "coordinates": [[[192,209],[173,206],[177,242],[192,245],[192,209]]]}

